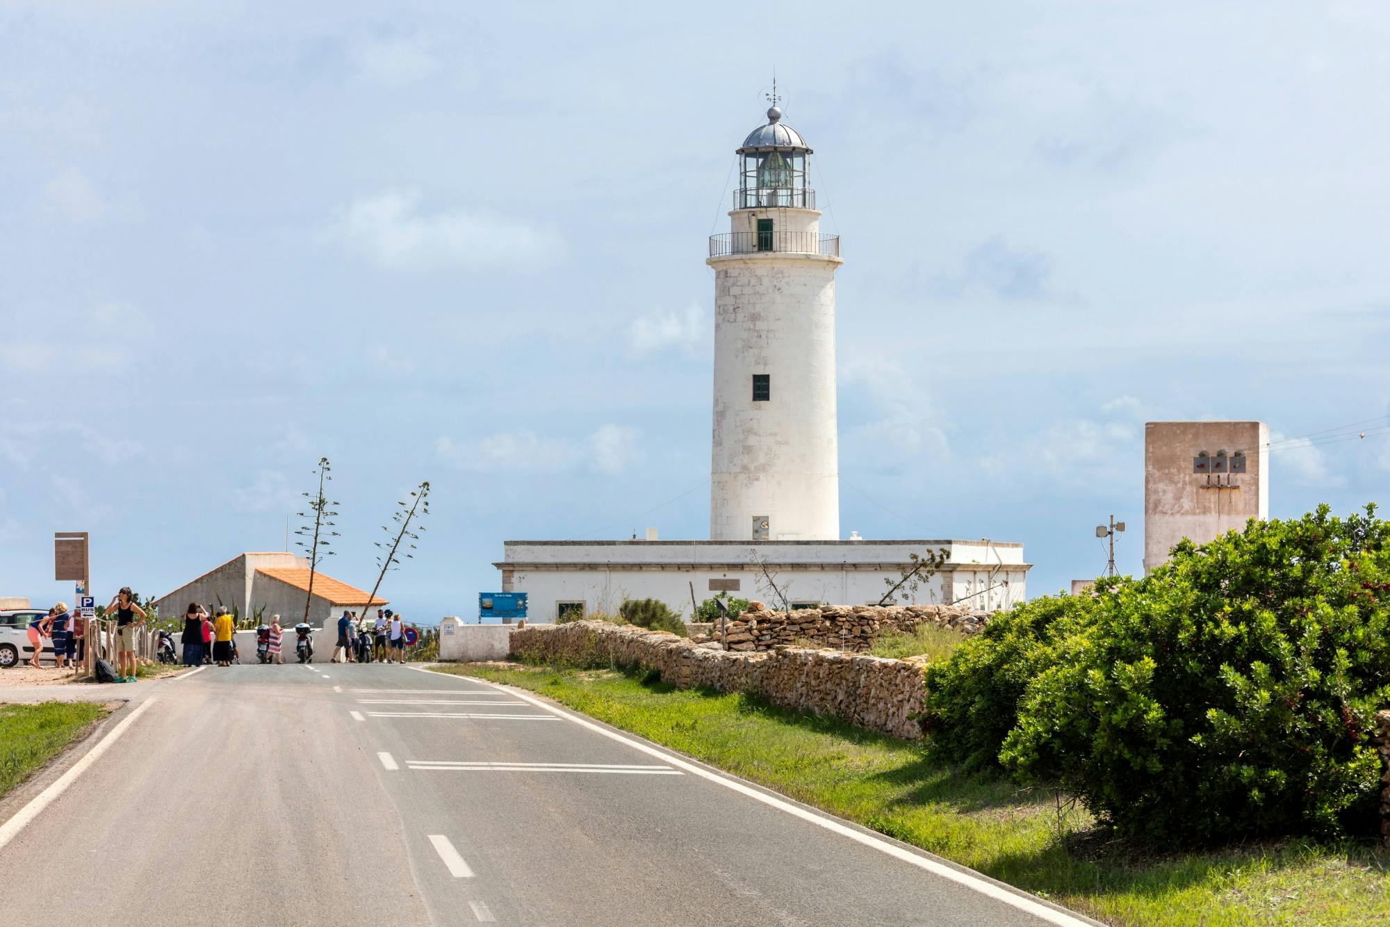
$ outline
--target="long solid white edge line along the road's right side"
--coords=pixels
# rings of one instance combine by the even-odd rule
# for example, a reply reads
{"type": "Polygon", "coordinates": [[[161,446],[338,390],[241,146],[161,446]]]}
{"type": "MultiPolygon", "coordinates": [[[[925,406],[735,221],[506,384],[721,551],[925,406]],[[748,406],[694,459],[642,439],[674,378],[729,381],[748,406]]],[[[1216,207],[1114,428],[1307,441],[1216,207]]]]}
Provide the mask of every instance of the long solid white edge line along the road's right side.
{"type": "MultiPolygon", "coordinates": [[[[416,672],[430,672],[428,670],[424,670],[421,667],[410,667],[410,668],[414,670],[416,672]]],[[[823,827],[823,828],[826,828],[827,831],[830,831],[833,834],[838,834],[841,837],[848,837],[849,839],[855,841],[856,843],[862,843],[865,846],[869,846],[872,849],[878,850],[880,853],[884,853],[887,856],[892,856],[894,859],[898,859],[898,860],[901,860],[903,863],[908,863],[909,866],[916,866],[917,869],[929,871],[933,876],[938,876],[938,877],[945,878],[948,881],[956,882],[958,885],[963,885],[965,888],[976,891],[976,892],[979,892],[979,894],[981,894],[981,895],[984,895],[987,898],[992,898],[994,901],[1001,902],[1004,905],[1009,905],[1011,908],[1016,908],[1016,909],[1019,909],[1022,912],[1027,912],[1029,914],[1033,914],[1034,917],[1045,920],[1049,924],[1056,924],[1058,927],[1086,927],[1087,926],[1087,921],[1081,920],[1080,917],[1076,917],[1074,914],[1072,914],[1069,912],[1056,910],[1055,908],[1048,908],[1047,905],[1042,905],[1041,902],[1037,902],[1037,901],[1029,898],[1027,895],[1015,894],[1015,892],[1009,891],[1008,888],[1005,888],[1004,885],[997,885],[997,884],[991,882],[990,880],[984,878],[983,876],[980,876],[979,873],[974,873],[972,870],[959,870],[959,869],[955,869],[954,866],[947,866],[942,862],[937,862],[937,860],[926,857],[926,856],[919,856],[917,853],[913,853],[913,852],[910,852],[908,849],[903,849],[902,846],[897,846],[894,843],[890,843],[888,841],[881,839],[881,838],[878,838],[878,837],[876,837],[873,834],[865,834],[862,831],[856,831],[852,827],[845,827],[840,821],[837,821],[834,818],[830,818],[830,817],[826,817],[826,816],[820,814],[819,811],[813,811],[810,809],[801,807],[799,805],[792,805],[791,802],[780,799],[777,796],[767,795],[764,792],[759,792],[758,789],[752,788],[751,785],[745,785],[745,784],[742,784],[742,782],[739,782],[737,779],[727,778],[724,775],[720,775],[719,772],[714,772],[712,770],[706,770],[706,768],[703,768],[701,766],[695,766],[694,763],[682,760],[682,759],[680,759],[680,757],[677,757],[674,754],[666,753],[664,750],[657,750],[653,746],[648,746],[646,743],[642,743],[639,740],[634,740],[632,738],[624,736],[624,735],[619,734],[617,731],[609,731],[607,728],[605,728],[605,727],[602,727],[599,724],[595,724],[594,721],[589,721],[588,718],[585,718],[582,715],[574,714],[573,711],[557,708],[553,704],[548,704],[548,703],[542,702],[541,699],[537,699],[537,697],[534,697],[531,695],[527,695],[524,692],[518,692],[516,689],[512,689],[510,686],[506,688],[506,689],[503,689],[498,683],[488,682],[485,679],[478,679],[478,682],[481,682],[482,685],[486,685],[486,686],[493,686],[493,688],[496,688],[499,690],[503,690],[503,692],[509,692],[510,695],[514,695],[516,697],[521,699],[523,702],[530,702],[531,704],[534,704],[535,707],[538,707],[538,708],[541,708],[543,711],[549,711],[550,714],[553,714],[553,715],[556,715],[559,718],[564,718],[566,721],[571,721],[571,722],[580,725],[581,728],[588,728],[589,731],[594,731],[595,734],[606,736],[610,740],[617,740],[619,743],[626,743],[627,746],[632,747],[634,750],[639,750],[642,753],[646,753],[648,756],[655,756],[655,757],[657,757],[660,760],[664,760],[664,761],[670,763],[671,766],[674,766],[674,767],[677,767],[680,770],[685,770],[691,775],[698,775],[698,777],[701,777],[703,779],[709,779],[710,782],[717,782],[719,785],[723,785],[726,789],[730,789],[733,792],[738,792],[739,795],[745,795],[745,796],[753,799],[755,802],[762,802],[763,805],[767,805],[769,807],[774,807],[778,811],[785,811],[787,814],[791,814],[792,817],[799,817],[801,820],[809,821],[809,823],[812,823],[812,824],[815,824],[817,827],[823,827]]]]}

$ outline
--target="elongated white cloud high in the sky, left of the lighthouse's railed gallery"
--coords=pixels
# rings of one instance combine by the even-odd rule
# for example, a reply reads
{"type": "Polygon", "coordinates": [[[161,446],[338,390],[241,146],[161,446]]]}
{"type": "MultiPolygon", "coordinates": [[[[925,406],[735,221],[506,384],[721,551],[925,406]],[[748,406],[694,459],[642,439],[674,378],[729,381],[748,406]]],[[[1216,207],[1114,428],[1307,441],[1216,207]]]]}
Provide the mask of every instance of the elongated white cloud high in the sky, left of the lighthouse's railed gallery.
{"type": "Polygon", "coordinates": [[[384,270],[531,269],[563,252],[552,230],[461,209],[425,213],[420,202],[417,192],[359,198],[335,216],[328,235],[384,270]]]}

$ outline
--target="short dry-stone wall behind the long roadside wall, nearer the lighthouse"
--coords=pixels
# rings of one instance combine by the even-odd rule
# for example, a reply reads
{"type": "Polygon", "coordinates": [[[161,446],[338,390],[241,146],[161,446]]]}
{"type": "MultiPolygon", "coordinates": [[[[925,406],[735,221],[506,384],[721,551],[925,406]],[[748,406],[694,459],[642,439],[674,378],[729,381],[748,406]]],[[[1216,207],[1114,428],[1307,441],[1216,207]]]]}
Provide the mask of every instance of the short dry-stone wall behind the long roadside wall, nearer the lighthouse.
{"type": "MultiPolygon", "coordinates": [[[[951,628],[972,635],[988,615],[956,605],[821,605],[794,611],[769,611],[760,601],[728,622],[728,649],[762,651],[774,647],[833,647],[856,653],[869,650],[885,633],[912,633],[917,625],[951,628]]],[[[709,635],[719,640],[719,622],[709,635]]],[[[701,639],[696,637],[696,642],[701,639]]]]}

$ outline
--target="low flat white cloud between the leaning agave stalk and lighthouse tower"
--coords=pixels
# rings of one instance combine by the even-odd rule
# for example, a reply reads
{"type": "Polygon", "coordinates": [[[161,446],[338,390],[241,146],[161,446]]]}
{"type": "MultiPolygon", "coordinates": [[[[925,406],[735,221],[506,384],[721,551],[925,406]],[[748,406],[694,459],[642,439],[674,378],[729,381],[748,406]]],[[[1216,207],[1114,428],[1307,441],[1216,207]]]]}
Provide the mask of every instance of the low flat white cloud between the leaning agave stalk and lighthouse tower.
{"type": "Polygon", "coordinates": [[[637,429],[621,425],[603,425],[584,441],[521,429],[489,434],[470,445],[441,437],[435,452],[463,470],[557,472],[588,466],[600,473],[620,473],[641,459],[638,437],[637,429]]]}

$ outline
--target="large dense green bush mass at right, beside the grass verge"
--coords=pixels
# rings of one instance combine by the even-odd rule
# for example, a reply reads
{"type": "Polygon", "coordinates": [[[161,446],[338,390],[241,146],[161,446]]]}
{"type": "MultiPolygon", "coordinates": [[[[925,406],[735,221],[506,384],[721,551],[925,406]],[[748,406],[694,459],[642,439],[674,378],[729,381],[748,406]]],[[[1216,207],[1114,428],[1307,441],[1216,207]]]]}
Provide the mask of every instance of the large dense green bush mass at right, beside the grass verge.
{"type": "Polygon", "coordinates": [[[1390,526],[1373,512],[1251,522],[1179,544],[1154,575],[1090,604],[1029,603],[1034,619],[1056,610],[1034,646],[1020,625],[948,661],[929,695],[934,736],[966,756],[988,749],[960,725],[994,704],[1005,718],[988,736],[1009,724],[1006,768],[1061,784],[1131,835],[1334,834],[1372,820],[1373,713],[1390,704],[1390,526]],[[1002,681],[974,714],[944,703],[970,692],[959,675],[972,661],[1002,681]]]}

